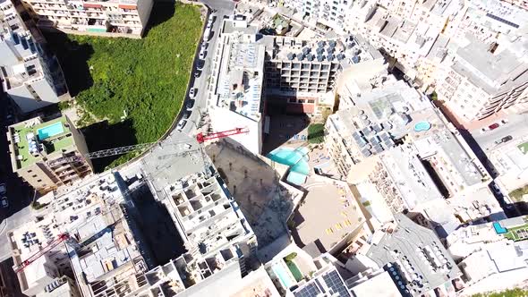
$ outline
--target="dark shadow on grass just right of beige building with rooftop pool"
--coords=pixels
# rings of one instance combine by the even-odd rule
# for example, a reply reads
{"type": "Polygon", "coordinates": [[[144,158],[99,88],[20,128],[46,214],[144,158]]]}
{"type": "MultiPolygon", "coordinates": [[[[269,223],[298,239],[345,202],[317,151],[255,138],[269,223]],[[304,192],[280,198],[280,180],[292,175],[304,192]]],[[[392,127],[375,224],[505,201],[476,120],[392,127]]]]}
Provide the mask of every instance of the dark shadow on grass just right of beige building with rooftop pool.
{"type": "MultiPolygon", "coordinates": [[[[81,132],[84,135],[89,152],[120,148],[138,143],[133,120],[130,118],[119,123],[108,123],[108,121],[93,123],[88,127],[82,128],[81,132]]],[[[91,162],[94,172],[101,173],[105,171],[108,165],[111,165],[112,162],[121,156],[92,158],[91,162]]]]}

